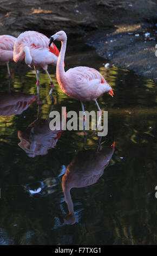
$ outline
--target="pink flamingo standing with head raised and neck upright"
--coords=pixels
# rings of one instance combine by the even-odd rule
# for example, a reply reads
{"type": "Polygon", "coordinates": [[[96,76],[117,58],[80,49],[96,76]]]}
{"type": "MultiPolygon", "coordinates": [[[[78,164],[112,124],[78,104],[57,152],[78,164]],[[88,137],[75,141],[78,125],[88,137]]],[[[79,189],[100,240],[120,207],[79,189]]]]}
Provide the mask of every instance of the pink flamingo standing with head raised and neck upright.
{"type": "Polygon", "coordinates": [[[67,35],[64,31],[59,31],[50,37],[49,47],[54,41],[61,41],[61,51],[57,59],[56,77],[62,91],[76,100],[81,101],[83,111],[83,129],[85,130],[86,114],[83,101],[94,100],[100,115],[101,108],[97,103],[97,97],[109,92],[113,97],[113,90],[106,82],[99,71],[87,66],[77,66],[73,69],[64,70],[64,56],[66,53],[67,35]]]}

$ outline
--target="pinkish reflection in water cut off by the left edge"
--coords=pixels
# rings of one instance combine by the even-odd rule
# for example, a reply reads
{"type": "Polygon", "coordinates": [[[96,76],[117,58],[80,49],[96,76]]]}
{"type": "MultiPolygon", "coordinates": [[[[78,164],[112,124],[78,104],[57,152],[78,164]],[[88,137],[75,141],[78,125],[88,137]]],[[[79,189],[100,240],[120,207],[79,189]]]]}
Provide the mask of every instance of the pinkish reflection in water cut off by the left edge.
{"type": "Polygon", "coordinates": [[[8,117],[10,115],[22,114],[32,102],[36,101],[36,95],[19,92],[0,93],[0,115],[8,117]]]}

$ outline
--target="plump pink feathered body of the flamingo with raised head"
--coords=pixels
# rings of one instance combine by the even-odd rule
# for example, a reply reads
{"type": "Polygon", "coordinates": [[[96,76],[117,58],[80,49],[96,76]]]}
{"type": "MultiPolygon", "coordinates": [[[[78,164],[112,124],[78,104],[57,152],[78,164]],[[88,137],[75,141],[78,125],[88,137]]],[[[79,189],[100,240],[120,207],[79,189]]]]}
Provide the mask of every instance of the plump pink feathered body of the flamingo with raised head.
{"type": "Polygon", "coordinates": [[[81,101],[95,100],[111,90],[100,72],[87,66],[69,69],[65,74],[66,84],[60,81],[58,74],[57,80],[64,93],[81,101]]]}

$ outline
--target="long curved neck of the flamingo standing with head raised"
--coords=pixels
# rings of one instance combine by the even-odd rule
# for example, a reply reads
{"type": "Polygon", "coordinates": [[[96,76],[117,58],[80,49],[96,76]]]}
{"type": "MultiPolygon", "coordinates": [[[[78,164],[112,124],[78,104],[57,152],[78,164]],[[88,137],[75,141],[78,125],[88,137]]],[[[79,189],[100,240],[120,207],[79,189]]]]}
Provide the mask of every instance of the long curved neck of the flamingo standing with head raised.
{"type": "Polygon", "coordinates": [[[65,80],[65,70],[64,70],[64,57],[65,57],[65,53],[66,53],[66,46],[67,46],[67,38],[64,39],[63,41],[61,41],[61,51],[60,54],[58,56],[58,60],[57,60],[57,68],[56,68],[56,76],[57,76],[57,81],[60,85],[62,85],[62,83],[65,80]]]}

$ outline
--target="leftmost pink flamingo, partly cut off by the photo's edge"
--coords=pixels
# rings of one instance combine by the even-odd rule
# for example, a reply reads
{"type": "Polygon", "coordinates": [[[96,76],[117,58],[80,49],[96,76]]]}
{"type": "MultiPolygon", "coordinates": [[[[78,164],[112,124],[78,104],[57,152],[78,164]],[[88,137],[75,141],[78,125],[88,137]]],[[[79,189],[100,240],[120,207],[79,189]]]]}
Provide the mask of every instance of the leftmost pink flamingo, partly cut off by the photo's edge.
{"type": "Polygon", "coordinates": [[[11,35],[0,35],[0,61],[5,62],[10,78],[9,62],[13,61],[13,50],[16,38],[11,35]]]}

